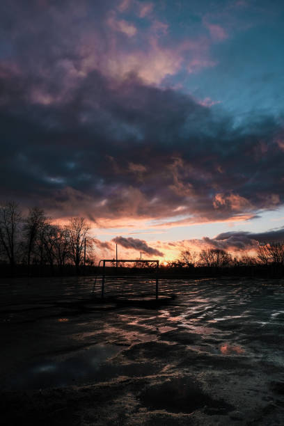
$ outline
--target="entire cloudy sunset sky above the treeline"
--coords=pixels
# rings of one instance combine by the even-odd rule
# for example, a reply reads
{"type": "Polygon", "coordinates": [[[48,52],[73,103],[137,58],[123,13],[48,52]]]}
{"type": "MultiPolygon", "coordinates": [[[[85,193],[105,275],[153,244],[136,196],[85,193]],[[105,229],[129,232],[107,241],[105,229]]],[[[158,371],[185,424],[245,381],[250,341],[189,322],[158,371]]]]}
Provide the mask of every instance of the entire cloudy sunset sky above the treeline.
{"type": "Polygon", "coordinates": [[[284,238],[284,3],[3,0],[0,199],[99,257],[284,238]]]}

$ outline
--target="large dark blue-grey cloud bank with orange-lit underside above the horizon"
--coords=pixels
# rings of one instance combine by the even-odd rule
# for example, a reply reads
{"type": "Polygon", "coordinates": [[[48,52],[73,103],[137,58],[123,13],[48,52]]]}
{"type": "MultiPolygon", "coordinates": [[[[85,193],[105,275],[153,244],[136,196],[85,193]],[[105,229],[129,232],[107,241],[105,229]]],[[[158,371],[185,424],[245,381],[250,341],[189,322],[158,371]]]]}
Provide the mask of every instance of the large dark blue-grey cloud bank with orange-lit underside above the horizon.
{"type": "Polygon", "coordinates": [[[272,118],[235,128],[189,96],[135,77],[114,84],[97,71],[67,98],[58,88],[51,103],[35,104],[23,77],[4,77],[2,87],[5,197],[99,221],[172,218],[168,225],[247,219],[283,203],[284,152],[273,137],[281,125],[272,118]]]}

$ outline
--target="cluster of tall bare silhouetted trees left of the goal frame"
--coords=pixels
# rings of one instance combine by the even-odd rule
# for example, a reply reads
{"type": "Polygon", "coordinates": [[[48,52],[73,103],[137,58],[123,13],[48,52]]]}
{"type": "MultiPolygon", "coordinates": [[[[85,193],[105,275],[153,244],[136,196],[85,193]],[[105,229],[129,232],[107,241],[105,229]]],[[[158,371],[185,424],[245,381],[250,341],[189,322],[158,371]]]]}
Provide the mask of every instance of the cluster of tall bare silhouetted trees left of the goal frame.
{"type": "Polygon", "coordinates": [[[94,264],[90,226],[83,217],[73,217],[65,226],[52,223],[45,211],[33,207],[26,215],[17,203],[0,206],[0,262],[10,266],[24,265],[28,274],[46,265],[62,272],[73,265],[79,274],[81,265],[94,264]]]}

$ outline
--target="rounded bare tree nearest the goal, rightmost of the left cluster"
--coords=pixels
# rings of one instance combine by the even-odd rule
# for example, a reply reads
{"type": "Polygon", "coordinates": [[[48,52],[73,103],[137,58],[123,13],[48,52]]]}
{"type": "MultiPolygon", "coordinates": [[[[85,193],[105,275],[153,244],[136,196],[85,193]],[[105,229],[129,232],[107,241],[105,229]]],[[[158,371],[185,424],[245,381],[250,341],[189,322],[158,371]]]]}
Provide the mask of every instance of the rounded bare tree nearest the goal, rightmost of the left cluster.
{"type": "Polygon", "coordinates": [[[83,217],[73,217],[66,229],[69,232],[71,257],[76,266],[77,274],[79,274],[79,266],[90,227],[83,217]]]}

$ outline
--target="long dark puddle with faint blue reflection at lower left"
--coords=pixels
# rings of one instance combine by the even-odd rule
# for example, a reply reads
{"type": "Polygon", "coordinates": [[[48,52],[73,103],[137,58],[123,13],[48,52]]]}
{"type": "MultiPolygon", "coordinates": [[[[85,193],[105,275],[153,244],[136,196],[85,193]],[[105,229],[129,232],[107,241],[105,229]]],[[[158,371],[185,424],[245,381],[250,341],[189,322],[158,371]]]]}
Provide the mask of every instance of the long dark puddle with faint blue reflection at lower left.
{"type": "Polygon", "coordinates": [[[10,388],[53,388],[111,379],[118,376],[118,366],[111,365],[108,358],[120,351],[121,348],[116,345],[95,345],[66,359],[34,363],[10,379],[10,388]]]}

